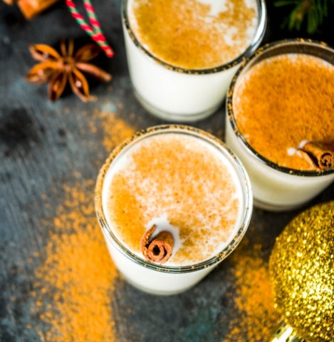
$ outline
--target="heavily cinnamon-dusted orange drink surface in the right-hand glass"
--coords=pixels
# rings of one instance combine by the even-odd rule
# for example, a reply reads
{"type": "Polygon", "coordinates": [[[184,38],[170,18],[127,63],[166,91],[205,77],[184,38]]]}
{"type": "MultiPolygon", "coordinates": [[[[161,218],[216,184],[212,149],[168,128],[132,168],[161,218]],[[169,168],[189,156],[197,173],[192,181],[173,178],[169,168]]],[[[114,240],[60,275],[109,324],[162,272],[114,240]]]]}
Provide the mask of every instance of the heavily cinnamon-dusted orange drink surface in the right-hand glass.
{"type": "Polygon", "coordinates": [[[334,66],[314,56],[291,53],[261,61],[236,83],[236,124],[249,145],[277,165],[331,167],[333,80],[334,66]],[[301,148],[306,140],[308,151],[301,148]]]}

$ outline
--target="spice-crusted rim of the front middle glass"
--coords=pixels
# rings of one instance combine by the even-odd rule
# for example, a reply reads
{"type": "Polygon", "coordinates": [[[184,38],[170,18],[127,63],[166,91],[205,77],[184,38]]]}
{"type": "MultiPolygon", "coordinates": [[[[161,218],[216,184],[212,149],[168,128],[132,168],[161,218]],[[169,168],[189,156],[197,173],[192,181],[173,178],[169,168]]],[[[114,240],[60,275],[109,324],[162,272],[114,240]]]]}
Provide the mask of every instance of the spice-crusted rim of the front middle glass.
{"type": "MultiPolygon", "coordinates": [[[[242,208],[241,208],[242,210],[242,208]]],[[[115,147],[115,149],[110,153],[107,160],[105,160],[105,163],[100,168],[100,171],[98,172],[98,179],[95,185],[95,212],[98,217],[98,222],[100,224],[101,229],[103,232],[105,232],[105,236],[112,242],[113,246],[118,249],[119,252],[121,252],[127,259],[130,259],[131,261],[134,261],[136,264],[139,264],[140,266],[144,266],[147,269],[152,269],[155,271],[162,271],[167,273],[187,273],[187,272],[193,272],[198,271],[200,269],[206,269],[209,266],[213,266],[214,264],[218,264],[219,261],[225,259],[231,252],[234,251],[236,246],[241,242],[241,239],[244,237],[244,234],[247,231],[247,228],[249,227],[249,222],[251,221],[251,214],[253,211],[253,194],[251,190],[251,182],[249,180],[249,176],[246,173],[246,170],[244,169],[244,166],[242,165],[241,161],[239,160],[236,155],[234,155],[231,150],[229,150],[229,147],[225,145],[224,142],[219,140],[219,138],[216,138],[211,133],[207,133],[204,130],[201,130],[199,128],[194,128],[192,126],[188,125],[175,125],[175,124],[166,124],[166,125],[156,125],[152,126],[150,128],[146,128],[145,130],[140,130],[134,135],[132,135],[130,138],[122,142],[122,144],[118,145],[118,147],[115,147]],[[224,152],[224,157],[226,157],[229,162],[231,160],[234,160],[234,170],[238,170],[238,178],[240,185],[243,190],[243,207],[244,212],[240,213],[239,221],[241,222],[239,224],[239,227],[236,227],[235,234],[232,234],[230,237],[230,241],[226,246],[221,249],[220,252],[216,253],[213,257],[210,257],[209,259],[206,259],[204,261],[201,261],[199,263],[190,264],[190,265],[180,265],[180,266],[174,266],[174,265],[164,265],[164,264],[158,264],[151,261],[148,261],[142,257],[139,257],[137,254],[131,252],[127,247],[122,244],[120,239],[115,236],[113,233],[110,225],[108,224],[108,221],[105,217],[105,212],[103,209],[103,182],[105,179],[105,175],[107,174],[110,165],[112,164],[113,160],[115,160],[115,157],[117,157],[120,152],[122,152],[125,147],[132,144],[132,142],[137,142],[139,138],[152,136],[156,134],[162,134],[162,133],[184,133],[189,134],[197,138],[202,138],[206,140],[206,142],[211,143],[215,147],[218,147],[221,152],[224,152]]]]}

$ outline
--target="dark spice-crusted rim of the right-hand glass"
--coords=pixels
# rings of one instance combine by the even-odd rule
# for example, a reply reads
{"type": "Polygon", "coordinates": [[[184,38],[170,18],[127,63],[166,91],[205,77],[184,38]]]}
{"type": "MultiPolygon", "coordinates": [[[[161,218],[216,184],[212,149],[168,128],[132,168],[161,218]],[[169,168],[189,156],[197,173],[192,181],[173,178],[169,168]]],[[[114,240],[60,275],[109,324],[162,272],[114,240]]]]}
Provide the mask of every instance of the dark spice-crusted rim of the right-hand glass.
{"type": "MultiPolygon", "coordinates": [[[[264,165],[267,165],[268,167],[271,167],[273,170],[286,173],[288,175],[296,175],[296,176],[305,176],[305,177],[319,177],[324,175],[330,175],[334,173],[334,167],[330,167],[327,169],[320,169],[320,170],[298,170],[293,169],[291,167],[284,167],[281,165],[276,164],[276,162],[272,162],[271,160],[268,160],[268,158],[263,157],[259,152],[257,152],[254,147],[252,147],[249,142],[247,142],[246,138],[244,138],[244,135],[239,130],[238,125],[236,124],[236,120],[234,118],[233,113],[233,95],[234,95],[234,88],[236,86],[236,83],[239,81],[239,78],[241,78],[242,73],[246,70],[246,68],[251,67],[251,63],[256,63],[258,58],[261,58],[263,54],[274,51],[276,48],[280,48],[282,46],[312,46],[314,48],[323,49],[323,51],[328,51],[328,53],[332,53],[334,56],[334,49],[328,46],[327,43],[323,41],[316,41],[314,39],[309,38],[286,38],[281,39],[278,41],[272,41],[270,43],[266,43],[260,48],[258,48],[254,54],[246,58],[243,63],[241,63],[241,66],[234,74],[234,77],[232,78],[231,84],[229,86],[229,90],[226,95],[226,111],[227,111],[227,117],[229,119],[229,123],[231,124],[232,130],[234,130],[234,134],[238,140],[241,141],[241,143],[246,148],[247,152],[250,155],[253,155],[256,160],[261,162],[264,165]]],[[[292,52],[291,52],[292,53],[292,52]]],[[[298,51],[295,51],[293,53],[298,53],[298,51]]],[[[303,51],[303,53],[306,53],[306,51],[303,51]]],[[[277,53],[273,54],[271,56],[278,56],[280,54],[286,54],[286,52],[283,53],[277,53]]],[[[310,55],[315,56],[314,54],[310,53],[310,55]]],[[[317,56],[318,58],[321,58],[317,56]]],[[[322,58],[323,59],[323,58],[322,58]]]]}

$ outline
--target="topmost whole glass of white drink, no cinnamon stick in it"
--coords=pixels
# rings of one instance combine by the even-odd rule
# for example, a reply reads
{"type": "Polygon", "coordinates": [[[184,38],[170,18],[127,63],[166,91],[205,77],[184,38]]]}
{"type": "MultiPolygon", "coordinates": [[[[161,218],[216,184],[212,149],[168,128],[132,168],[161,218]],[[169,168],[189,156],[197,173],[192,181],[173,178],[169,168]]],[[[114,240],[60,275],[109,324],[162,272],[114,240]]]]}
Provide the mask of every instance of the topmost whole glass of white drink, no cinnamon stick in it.
{"type": "Polygon", "coordinates": [[[124,0],[127,63],[137,99],[172,121],[214,113],[241,61],[261,43],[264,0],[124,0]]]}

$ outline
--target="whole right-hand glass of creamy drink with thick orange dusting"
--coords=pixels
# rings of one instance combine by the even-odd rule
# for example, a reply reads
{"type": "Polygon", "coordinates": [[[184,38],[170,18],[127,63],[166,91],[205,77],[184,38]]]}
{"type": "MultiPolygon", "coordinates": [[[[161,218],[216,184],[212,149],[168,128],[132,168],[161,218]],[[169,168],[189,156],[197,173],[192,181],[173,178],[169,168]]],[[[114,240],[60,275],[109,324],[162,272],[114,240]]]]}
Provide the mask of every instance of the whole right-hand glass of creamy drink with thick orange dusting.
{"type": "Polygon", "coordinates": [[[292,209],[334,180],[334,50],[305,40],[260,48],[226,101],[226,143],[243,162],[254,204],[292,209]]]}

